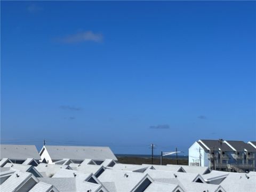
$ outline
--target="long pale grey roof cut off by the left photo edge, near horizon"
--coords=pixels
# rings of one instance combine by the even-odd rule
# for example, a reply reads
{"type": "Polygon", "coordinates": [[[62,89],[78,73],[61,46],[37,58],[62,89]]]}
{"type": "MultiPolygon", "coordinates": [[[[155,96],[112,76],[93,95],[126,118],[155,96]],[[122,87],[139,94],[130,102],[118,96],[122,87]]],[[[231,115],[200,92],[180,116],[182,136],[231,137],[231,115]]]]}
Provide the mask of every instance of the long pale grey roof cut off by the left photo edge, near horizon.
{"type": "Polygon", "coordinates": [[[1,145],[0,157],[15,160],[41,159],[34,145],[1,145]]]}

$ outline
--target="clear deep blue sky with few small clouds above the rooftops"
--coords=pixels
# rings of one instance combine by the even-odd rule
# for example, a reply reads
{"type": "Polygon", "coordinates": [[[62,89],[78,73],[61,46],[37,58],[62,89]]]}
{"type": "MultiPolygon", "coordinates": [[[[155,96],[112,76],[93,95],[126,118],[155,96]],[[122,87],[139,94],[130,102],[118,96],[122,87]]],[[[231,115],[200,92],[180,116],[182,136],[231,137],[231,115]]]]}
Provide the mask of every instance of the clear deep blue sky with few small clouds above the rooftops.
{"type": "Polygon", "coordinates": [[[1,141],[256,140],[255,5],[1,1],[1,141]]]}

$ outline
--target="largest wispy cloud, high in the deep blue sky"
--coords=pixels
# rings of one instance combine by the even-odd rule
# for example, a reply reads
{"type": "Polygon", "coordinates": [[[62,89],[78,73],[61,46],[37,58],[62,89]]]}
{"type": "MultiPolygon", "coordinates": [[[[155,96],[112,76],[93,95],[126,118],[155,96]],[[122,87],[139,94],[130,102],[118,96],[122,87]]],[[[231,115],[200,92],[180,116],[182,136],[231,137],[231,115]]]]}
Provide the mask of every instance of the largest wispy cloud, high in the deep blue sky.
{"type": "Polygon", "coordinates": [[[103,41],[103,35],[100,33],[93,33],[92,31],[83,31],[59,38],[59,41],[62,43],[81,43],[87,41],[100,43],[103,41]]]}

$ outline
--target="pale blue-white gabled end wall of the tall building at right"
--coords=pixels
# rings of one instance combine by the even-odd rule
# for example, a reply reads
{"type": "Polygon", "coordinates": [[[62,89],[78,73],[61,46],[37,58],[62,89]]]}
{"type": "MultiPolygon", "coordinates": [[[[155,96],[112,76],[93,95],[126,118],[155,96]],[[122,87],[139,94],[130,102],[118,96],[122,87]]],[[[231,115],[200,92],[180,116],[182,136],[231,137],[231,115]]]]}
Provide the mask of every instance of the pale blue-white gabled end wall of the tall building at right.
{"type": "Polygon", "coordinates": [[[188,165],[200,166],[199,149],[201,151],[201,166],[209,166],[208,154],[197,142],[194,142],[188,149],[188,165]]]}

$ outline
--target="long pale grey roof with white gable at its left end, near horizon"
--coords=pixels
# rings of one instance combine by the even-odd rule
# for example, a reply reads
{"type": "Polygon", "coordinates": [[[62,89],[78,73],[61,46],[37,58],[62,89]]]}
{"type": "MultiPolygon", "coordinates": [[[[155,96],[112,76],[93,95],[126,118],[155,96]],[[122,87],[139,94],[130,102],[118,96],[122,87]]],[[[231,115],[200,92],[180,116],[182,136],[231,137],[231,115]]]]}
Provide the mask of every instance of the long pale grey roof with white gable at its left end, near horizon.
{"type": "Polygon", "coordinates": [[[69,158],[77,161],[84,161],[84,159],[102,160],[114,159],[117,161],[116,156],[113,154],[109,147],[89,147],[89,146],[44,146],[50,157],[53,160],[60,160],[69,158]]]}

